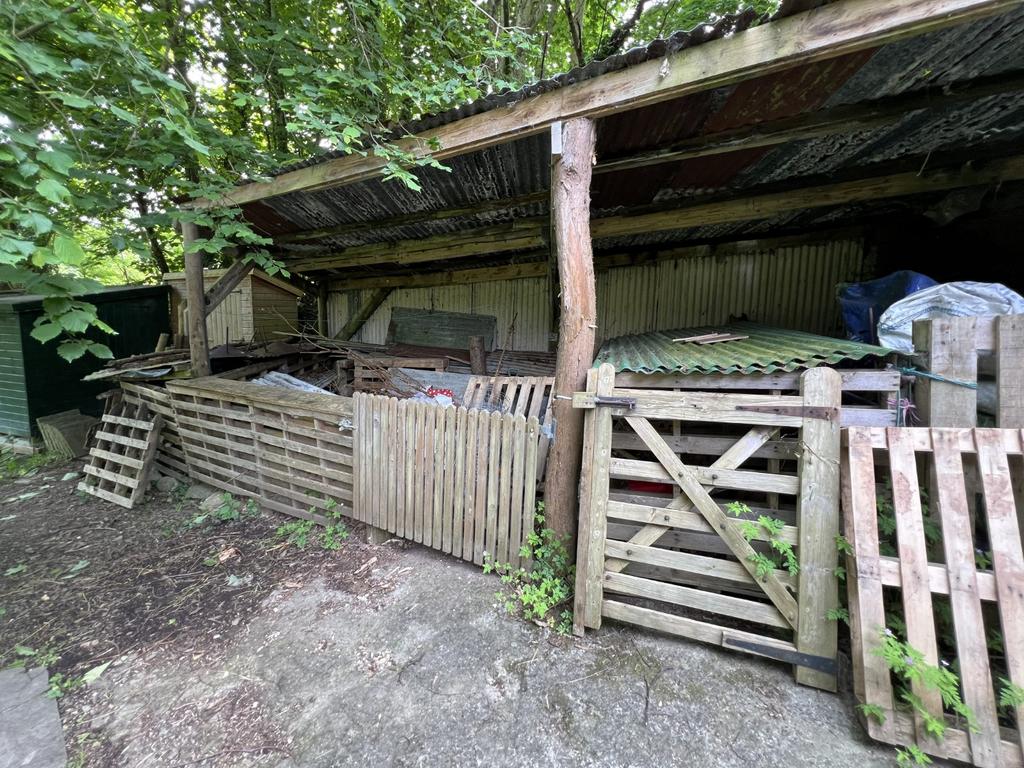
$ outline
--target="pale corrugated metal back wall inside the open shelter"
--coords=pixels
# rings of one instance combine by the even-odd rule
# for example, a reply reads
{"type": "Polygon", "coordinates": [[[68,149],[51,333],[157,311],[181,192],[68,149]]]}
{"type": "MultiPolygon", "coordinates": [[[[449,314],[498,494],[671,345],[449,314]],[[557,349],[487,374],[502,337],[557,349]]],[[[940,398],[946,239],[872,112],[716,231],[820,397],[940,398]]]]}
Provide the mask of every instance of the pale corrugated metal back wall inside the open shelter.
{"type": "MultiPolygon", "coordinates": [[[[840,331],[836,284],[864,276],[857,239],[777,248],[737,247],[601,272],[597,278],[598,341],[629,333],[748,319],[813,333],[840,331]]],[[[331,294],[331,332],[357,311],[368,291],[331,294]]],[[[512,347],[543,350],[550,327],[543,278],[443,288],[398,289],[355,336],[383,343],[391,307],[478,312],[498,317],[501,342],[515,316],[512,347]]]]}

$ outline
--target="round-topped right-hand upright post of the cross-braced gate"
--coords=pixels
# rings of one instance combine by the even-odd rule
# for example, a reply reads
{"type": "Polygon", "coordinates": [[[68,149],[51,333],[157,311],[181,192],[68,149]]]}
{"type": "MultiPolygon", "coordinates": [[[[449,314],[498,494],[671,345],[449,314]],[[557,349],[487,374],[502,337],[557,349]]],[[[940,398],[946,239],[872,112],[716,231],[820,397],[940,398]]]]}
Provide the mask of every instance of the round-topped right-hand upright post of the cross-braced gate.
{"type": "MultiPolygon", "coordinates": [[[[797,498],[800,621],[797,650],[835,659],[838,627],[827,617],[839,607],[839,456],[842,379],[829,368],[814,368],[800,380],[805,408],[835,409],[837,418],[804,418],[800,432],[800,496],[797,498]]],[[[836,690],[836,673],[797,668],[797,682],[836,690]]]]}

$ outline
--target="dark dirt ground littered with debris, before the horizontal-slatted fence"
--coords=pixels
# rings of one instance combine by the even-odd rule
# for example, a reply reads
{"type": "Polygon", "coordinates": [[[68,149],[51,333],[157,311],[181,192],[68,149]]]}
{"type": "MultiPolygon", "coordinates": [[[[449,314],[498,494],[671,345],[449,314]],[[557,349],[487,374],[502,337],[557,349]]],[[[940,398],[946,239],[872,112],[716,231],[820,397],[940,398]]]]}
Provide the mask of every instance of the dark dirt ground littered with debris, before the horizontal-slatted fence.
{"type": "MultiPolygon", "coordinates": [[[[292,520],[284,515],[256,510],[196,525],[199,500],[182,488],[153,488],[125,510],[77,490],[80,473],[77,462],[0,480],[0,668],[46,666],[68,687],[59,706],[73,764],[121,764],[123,745],[93,727],[101,726],[98,702],[80,682],[89,670],[129,657],[133,668],[159,657],[213,669],[275,591],[316,581],[374,609],[399,570],[394,546],[367,544],[358,527],[338,550],[300,550],[276,534],[292,520]]],[[[167,713],[153,733],[198,718],[220,734],[217,764],[259,744],[280,754],[256,689],[241,686],[215,712],[167,713]]]]}

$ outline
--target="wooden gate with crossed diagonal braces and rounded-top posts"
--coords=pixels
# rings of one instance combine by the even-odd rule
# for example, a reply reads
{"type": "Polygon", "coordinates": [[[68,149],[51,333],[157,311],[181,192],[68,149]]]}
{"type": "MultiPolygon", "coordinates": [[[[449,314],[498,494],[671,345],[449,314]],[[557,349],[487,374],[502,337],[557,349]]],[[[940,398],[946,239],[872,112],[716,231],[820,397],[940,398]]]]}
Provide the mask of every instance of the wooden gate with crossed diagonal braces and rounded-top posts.
{"type": "Polygon", "coordinates": [[[614,618],[791,663],[835,690],[840,403],[829,369],[806,372],[800,396],[624,389],[610,366],[592,371],[573,398],[589,410],[577,632],[614,618]],[[730,432],[701,463],[693,438],[730,432]]]}

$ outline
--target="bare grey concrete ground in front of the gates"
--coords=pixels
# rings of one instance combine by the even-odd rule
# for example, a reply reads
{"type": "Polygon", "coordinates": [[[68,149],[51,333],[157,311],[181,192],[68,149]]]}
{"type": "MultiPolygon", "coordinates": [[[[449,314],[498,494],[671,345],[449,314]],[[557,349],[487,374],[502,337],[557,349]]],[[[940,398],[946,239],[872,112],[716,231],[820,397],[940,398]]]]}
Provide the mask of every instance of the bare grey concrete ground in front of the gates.
{"type": "Polygon", "coordinates": [[[385,547],[383,594],[286,583],[215,664],[128,655],[76,716],[146,768],[894,764],[849,696],[785,667],[624,627],[559,638],[505,615],[494,577],[385,547]]]}

